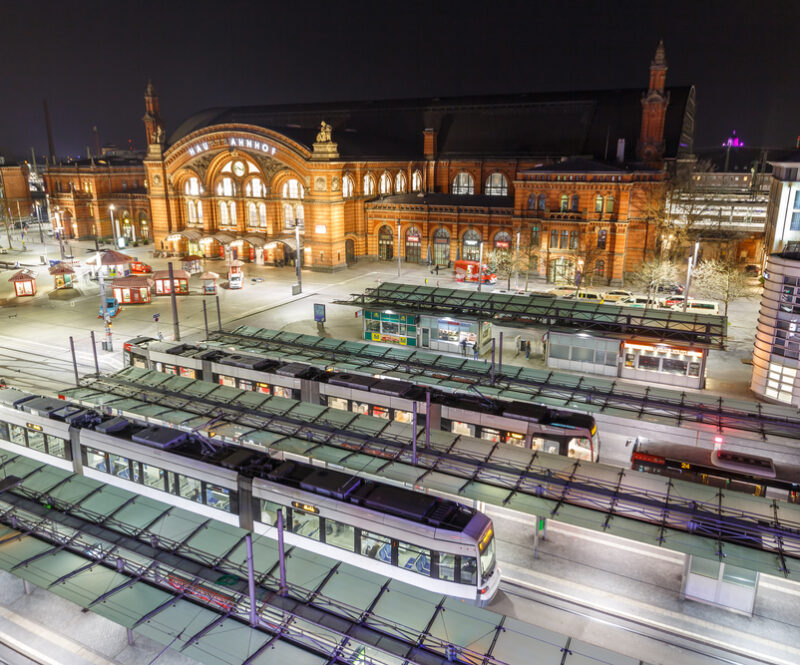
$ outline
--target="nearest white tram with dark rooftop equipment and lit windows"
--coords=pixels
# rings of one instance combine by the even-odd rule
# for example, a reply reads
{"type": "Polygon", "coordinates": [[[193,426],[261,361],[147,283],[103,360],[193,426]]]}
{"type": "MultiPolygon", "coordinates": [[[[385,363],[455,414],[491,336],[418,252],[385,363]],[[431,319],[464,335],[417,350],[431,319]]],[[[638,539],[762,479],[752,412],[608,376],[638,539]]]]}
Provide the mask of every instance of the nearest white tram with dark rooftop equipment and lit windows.
{"type": "Polygon", "coordinates": [[[289,545],[477,605],[500,584],[491,519],[450,499],[11,388],[0,449],[271,538],[281,511],[289,545]]]}

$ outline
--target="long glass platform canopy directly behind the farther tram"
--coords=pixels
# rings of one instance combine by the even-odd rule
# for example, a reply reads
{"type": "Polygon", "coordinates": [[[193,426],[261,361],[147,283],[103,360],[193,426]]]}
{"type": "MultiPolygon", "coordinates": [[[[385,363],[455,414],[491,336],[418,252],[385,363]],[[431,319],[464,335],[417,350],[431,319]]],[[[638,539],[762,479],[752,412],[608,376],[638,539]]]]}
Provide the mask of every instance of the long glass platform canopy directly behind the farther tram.
{"type": "MultiPolygon", "coordinates": [[[[552,408],[647,419],[680,427],[711,427],[720,432],[756,432],[764,438],[800,439],[800,418],[794,409],[705,391],[682,392],[508,363],[498,369],[492,384],[484,361],[428,350],[252,326],[214,332],[211,337],[212,340],[201,343],[202,350],[184,348],[181,354],[192,357],[208,353],[209,349],[232,352],[235,348],[238,352],[281,362],[307,363],[320,369],[369,376],[379,374],[421,386],[436,386],[444,391],[467,393],[472,392],[470,386],[475,385],[491,398],[534,401],[552,408]]],[[[153,342],[149,348],[176,352],[170,351],[175,348],[170,342],[153,342]]]]}

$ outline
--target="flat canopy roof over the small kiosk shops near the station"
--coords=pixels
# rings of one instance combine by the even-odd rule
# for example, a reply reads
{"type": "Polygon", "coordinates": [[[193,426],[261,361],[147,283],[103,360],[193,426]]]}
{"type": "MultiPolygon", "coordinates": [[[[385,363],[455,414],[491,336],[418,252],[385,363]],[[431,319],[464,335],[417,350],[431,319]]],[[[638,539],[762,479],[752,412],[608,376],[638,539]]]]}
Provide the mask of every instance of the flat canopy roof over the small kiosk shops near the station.
{"type": "Polygon", "coordinates": [[[392,309],[436,316],[471,316],[507,326],[568,328],[621,339],[678,342],[724,349],[728,321],[724,316],[664,309],[638,309],[551,296],[384,282],[349,300],[334,301],[365,309],[392,309]]]}

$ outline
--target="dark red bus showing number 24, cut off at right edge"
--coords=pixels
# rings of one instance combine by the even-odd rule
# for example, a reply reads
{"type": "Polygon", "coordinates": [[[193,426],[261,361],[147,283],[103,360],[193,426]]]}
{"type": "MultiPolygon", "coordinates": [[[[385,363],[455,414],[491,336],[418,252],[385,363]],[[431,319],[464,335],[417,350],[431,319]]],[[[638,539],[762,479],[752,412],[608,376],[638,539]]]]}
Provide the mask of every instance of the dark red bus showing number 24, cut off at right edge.
{"type": "MultiPolygon", "coordinates": [[[[719,438],[719,437],[718,437],[719,438]]],[[[721,487],[735,492],[800,503],[800,475],[779,477],[772,460],[727,451],[717,441],[714,450],[634,441],[631,468],[671,478],[721,487]]]]}

